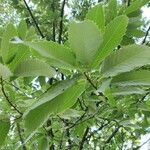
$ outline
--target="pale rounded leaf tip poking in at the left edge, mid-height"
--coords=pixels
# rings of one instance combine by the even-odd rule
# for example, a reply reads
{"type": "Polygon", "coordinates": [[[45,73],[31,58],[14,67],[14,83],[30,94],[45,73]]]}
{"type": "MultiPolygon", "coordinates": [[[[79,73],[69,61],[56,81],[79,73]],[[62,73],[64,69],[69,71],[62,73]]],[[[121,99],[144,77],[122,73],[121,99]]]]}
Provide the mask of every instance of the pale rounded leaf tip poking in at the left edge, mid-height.
{"type": "Polygon", "coordinates": [[[7,79],[10,76],[12,76],[12,73],[9,68],[0,63],[0,77],[2,77],[3,79],[7,79]]]}

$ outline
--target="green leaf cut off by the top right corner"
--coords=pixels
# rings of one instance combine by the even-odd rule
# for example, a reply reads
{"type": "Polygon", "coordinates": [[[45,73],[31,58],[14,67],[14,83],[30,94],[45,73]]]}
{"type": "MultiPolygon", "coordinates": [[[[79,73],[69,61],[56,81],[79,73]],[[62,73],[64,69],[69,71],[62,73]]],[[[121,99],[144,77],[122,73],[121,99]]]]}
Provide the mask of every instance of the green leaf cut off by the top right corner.
{"type": "Polygon", "coordinates": [[[126,8],[126,14],[130,14],[138,9],[140,9],[143,5],[147,4],[149,0],[136,0],[131,3],[129,7],[126,8]]]}

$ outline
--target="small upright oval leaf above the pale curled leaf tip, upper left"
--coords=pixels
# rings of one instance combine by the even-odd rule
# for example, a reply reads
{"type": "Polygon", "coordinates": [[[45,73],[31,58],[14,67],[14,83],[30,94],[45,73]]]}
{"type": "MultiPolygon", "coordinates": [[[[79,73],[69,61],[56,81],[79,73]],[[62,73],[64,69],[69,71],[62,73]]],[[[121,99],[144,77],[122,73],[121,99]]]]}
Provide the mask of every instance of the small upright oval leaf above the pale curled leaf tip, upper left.
{"type": "Polygon", "coordinates": [[[18,26],[18,36],[21,39],[25,39],[26,33],[27,33],[27,24],[24,20],[22,20],[18,26]]]}

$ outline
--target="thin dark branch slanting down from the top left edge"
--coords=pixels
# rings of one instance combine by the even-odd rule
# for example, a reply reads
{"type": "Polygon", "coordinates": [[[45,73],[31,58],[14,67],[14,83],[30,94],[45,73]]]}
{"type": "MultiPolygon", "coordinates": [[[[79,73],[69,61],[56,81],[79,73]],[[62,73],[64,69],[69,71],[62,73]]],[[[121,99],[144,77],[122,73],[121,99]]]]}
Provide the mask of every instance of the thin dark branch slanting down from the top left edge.
{"type": "Polygon", "coordinates": [[[42,38],[44,38],[44,35],[43,35],[43,33],[42,33],[42,31],[41,31],[37,21],[35,20],[35,17],[33,15],[32,11],[31,11],[30,7],[28,6],[26,0],[23,0],[23,1],[24,1],[24,4],[25,4],[25,6],[26,6],[26,8],[27,8],[27,10],[28,10],[28,12],[29,12],[29,14],[30,14],[30,16],[31,16],[31,18],[32,18],[32,20],[33,20],[37,30],[38,30],[38,32],[39,32],[39,34],[41,35],[42,38]]]}

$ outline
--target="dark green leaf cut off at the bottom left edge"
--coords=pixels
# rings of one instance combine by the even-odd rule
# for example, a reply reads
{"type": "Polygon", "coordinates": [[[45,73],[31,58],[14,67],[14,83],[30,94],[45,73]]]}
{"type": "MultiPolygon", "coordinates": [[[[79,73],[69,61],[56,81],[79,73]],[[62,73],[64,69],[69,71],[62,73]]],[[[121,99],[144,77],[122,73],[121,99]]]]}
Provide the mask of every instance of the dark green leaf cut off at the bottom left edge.
{"type": "Polygon", "coordinates": [[[0,147],[4,144],[10,129],[10,122],[0,120],[0,147]]]}

